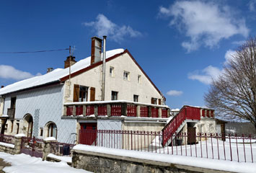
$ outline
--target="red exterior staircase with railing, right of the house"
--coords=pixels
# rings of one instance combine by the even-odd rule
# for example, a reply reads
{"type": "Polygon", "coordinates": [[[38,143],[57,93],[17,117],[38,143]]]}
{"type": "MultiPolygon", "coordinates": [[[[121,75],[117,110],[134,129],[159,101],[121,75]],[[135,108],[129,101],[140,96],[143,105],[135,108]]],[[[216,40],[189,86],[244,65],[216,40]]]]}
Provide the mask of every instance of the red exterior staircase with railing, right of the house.
{"type": "Polygon", "coordinates": [[[198,122],[202,115],[201,107],[183,106],[180,112],[162,129],[162,146],[169,146],[174,140],[174,134],[180,130],[187,122],[198,122]]]}

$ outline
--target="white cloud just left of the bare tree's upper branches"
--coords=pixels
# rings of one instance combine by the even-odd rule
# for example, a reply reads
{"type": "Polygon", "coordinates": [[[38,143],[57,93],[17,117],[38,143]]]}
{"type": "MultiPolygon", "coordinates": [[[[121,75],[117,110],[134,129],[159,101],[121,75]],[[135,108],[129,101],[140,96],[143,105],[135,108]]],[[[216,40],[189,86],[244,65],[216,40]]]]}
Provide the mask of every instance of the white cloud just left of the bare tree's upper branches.
{"type": "Polygon", "coordinates": [[[198,80],[203,84],[211,84],[212,79],[217,79],[221,75],[222,70],[214,67],[208,66],[202,71],[194,71],[188,74],[188,79],[198,80]]]}

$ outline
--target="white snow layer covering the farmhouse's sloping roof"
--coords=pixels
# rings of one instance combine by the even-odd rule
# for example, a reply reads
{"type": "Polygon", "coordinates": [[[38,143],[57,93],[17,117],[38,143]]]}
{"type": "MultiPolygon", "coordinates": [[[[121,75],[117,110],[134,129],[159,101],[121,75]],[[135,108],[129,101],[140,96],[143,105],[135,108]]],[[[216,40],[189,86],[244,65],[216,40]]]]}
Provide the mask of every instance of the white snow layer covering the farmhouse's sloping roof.
{"type": "MultiPolygon", "coordinates": [[[[110,58],[115,56],[118,53],[123,53],[123,49],[114,49],[106,52],[106,58],[110,58]]],[[[82,59],[81,61],[76,62],[73,66],[71,66],[71,74],[76,71],[79,71],[83,68],[86,68],[91,63],[91,56],[82,59]]],[[[48,74],[44,74],[42,76],[35,76],[30,79],[25,79],[23,81],[17,81],[14,84],[10,84],[0,89],[0,95],[7,94],[10,92],[17,92],[22,89],[28,89],[35,86],[40,86],[43,84],[50,84],[55,81],[60,81],[64,76],[69,75],[69,68],[56,68],[48,74]]]]}

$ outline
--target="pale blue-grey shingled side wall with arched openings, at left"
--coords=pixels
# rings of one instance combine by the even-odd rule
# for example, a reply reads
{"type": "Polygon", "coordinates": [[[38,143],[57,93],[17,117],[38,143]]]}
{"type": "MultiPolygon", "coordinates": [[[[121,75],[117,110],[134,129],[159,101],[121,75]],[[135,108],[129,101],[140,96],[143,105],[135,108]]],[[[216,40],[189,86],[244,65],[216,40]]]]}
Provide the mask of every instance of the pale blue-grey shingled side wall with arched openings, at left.
{"type": "MultiPolygon", "coordinates": [[[[10,107],[11,97],[17,97],[15,119],[19,120],[19,133],[22,133],[23,117],[26,114],[30,114],[33,117],[34,136],[40,138],[40,128],[45,128],[45,125],[51,121],[57,125],[58,141],[74,141],[75,135],[71,133],[76,133],[76,120],[61,120],[63,113],[63,85],[48,86],[47,88],[34,89],[12,96],[6,96],[4,106],[5,115],[7,114],[7,109],[10,107]]],[[[17,130],[14,130],[14,133],[17,133],[17,130]]]]}

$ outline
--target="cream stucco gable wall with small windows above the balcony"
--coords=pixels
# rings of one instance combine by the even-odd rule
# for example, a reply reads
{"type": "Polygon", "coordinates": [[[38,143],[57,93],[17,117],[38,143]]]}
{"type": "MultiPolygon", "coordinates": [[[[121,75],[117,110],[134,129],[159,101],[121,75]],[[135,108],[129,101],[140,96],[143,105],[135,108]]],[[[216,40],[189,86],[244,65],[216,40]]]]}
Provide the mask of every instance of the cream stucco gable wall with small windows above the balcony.
{"type": "MultiPolygon", "coordinates": [[[[101,84],[102,84],[102,66],[97,66],[83,74],[74,76],[71,78],[71,94],[69,94],[69,86],[65,86],[65,102],[73,101],[74,84],[80,84],[84,86],[95,88],[95,99],[101,100],[101,84]]],[[[90,90],[89,90],[90,91],[90,90]]],[[[105,83],[105,100],[111,100],[111,92],[118,92],[118,99],[124,99],[133,101],[133,94],[138,95],[138,102],[151,103],[151,97],[162,99],[161,95],[154,86],[151,84],[149,79],[143,74],[138,68],[136,63],[128,55],[123,54],[118,58],[114,58],[106,63],[106,83],[105,83]],[[114,76],[110,76],[110,66],[114,67],[114,76]],[[130,80],[125,81],[123,79],[123,72],[130,72],[130,80]],[[141,75],[141,83],[138,84],[138,75],[141,75]]],[[[88,93],[90,97],[90,93],[88,93]]],[[[90,98],[88,98],[89,101],[90,98]]],[[[158,104],[158,100],[157,100],[158,104]]]]}

